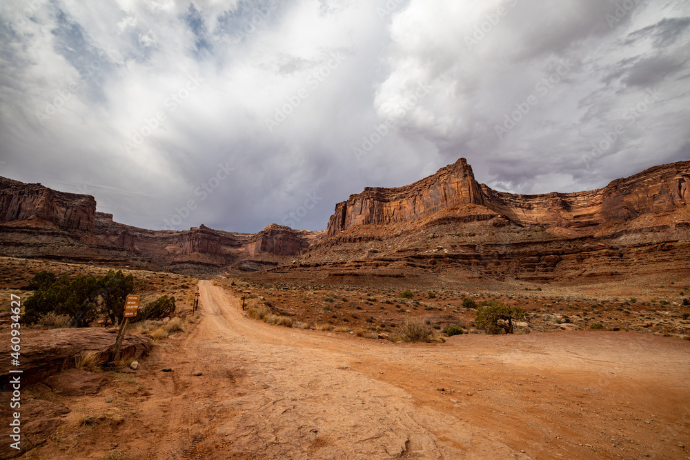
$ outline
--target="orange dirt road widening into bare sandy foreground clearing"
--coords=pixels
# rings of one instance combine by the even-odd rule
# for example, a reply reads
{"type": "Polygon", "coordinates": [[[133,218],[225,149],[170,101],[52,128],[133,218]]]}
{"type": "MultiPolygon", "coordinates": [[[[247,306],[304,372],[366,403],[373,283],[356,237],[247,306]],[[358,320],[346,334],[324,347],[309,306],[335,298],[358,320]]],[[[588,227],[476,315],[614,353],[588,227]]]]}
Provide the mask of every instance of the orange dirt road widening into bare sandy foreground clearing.
{"type": "Polygon", "coordinates": [[[690,341],[578,331],[394,344],[271,326],[210,281],[199,290],[191,332],[162,342],[134,390],[97,397],[117,398],[124,421],[62,429],[29,455],[690,459],[690,341]]]}

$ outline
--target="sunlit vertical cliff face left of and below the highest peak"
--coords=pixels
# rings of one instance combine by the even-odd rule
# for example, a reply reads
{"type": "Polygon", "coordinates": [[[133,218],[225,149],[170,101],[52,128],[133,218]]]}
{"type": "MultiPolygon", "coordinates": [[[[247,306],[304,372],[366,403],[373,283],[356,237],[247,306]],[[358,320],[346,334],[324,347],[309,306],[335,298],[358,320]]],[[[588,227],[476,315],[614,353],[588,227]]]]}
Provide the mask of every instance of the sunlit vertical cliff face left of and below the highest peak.
{"type": "Polygon", "coordinates": [[[482,204],[482,190],[472,167],[461,158],[421,181],[399,188],[371,188],[335,206],[327,237],[358,225],[419,219],[462,204],[482,204]]]}

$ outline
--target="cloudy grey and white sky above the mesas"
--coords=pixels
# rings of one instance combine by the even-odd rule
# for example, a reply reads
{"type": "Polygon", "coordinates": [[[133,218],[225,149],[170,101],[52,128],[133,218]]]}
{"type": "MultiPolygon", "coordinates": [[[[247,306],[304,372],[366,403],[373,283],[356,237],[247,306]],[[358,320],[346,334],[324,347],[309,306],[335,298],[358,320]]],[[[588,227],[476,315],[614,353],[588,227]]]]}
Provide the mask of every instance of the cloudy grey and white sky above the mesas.
{"type": "Polygon", "coordinates": [[[687,0],[3,0],[0,175],[144,228],[326,228],[466,157],[574,192],[690,159],[687,0]]]}

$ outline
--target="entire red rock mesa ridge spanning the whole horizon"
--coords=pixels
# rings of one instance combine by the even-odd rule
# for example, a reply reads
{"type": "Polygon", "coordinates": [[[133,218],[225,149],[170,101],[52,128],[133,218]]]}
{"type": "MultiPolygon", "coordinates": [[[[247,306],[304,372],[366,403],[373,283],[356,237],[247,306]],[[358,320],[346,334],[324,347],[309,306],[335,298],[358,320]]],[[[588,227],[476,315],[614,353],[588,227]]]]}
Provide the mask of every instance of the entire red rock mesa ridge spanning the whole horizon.
{"type": "Polygon", "coordinates": [[[3,179],[0,252],[315,278],[415,270],[533,282],[620,278],[690,268],[689,183],[690,161],[682,161],[599,190],[511,194],[478,183],[459,159],[409,186],[351,195],[325,232],[271,224],[241,234],[126,226],[96,212],[92,197],[3,179]]]}

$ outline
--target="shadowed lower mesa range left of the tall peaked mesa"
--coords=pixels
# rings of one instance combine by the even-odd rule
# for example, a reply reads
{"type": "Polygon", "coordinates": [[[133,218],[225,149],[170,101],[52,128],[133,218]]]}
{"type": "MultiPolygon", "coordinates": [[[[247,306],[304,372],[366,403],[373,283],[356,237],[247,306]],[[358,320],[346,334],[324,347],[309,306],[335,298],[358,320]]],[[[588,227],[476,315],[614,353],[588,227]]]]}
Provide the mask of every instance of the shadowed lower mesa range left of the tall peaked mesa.
{"type": "Polygon", "coordinates": [[[284,262],[322,232],[268,226],[257,234],[213,230],[146,230],[96,211],[89,195],[0,178],[0,254],[150,269],[217,270],[250,260],[284,262]],[[277,258],[277,259],[276,259],[277,258]],[[275,259],[275,260],[274,260],[275,259]]]}

